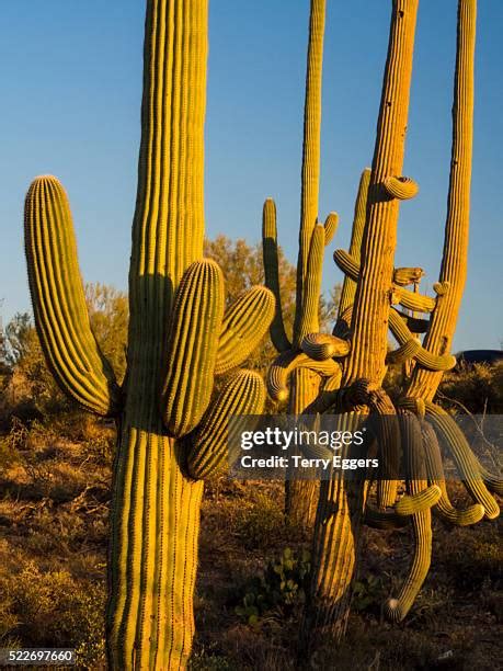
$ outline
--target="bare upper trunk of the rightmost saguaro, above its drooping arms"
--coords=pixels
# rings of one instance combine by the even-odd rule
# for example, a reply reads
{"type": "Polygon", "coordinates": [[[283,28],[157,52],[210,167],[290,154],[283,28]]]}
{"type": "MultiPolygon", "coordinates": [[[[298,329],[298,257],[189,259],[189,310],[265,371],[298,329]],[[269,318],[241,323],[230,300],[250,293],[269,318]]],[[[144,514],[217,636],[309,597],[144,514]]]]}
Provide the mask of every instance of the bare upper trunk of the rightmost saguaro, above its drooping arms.
{"type": "MultiPolygon", "coordinates": [[[[476,20],[477,0],[459,0],[450,177],[439,276],[441,283],[448,283],[449,288],[437,302],[424,339],[424,348],[432,354],[438,355],[448,354],[450,351],[467,272],[476,20]]],[[[414,368],[408,395],[432,400],[441,379],[442,371],[428,371],[424,364],[418,365],[414,368]]]]}

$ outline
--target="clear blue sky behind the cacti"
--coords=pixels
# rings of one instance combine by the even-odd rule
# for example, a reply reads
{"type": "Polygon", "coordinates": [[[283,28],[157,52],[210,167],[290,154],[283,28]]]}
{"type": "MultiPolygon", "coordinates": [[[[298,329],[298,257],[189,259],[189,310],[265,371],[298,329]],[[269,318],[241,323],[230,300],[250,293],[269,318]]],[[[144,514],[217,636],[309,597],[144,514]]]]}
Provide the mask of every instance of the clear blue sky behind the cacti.
{"type": "MultiPolygon", "coordinates": [[[[359,172],[374,147],[390,0],[328,0],[320,216],[347,247],[359,172]]],[[[3,319],[30,307],[22,248],[25,191],[56,174],[70,195],[82,273],[126,287],[139,143],[142,0],[15,0],[0,34],[0,297],[3,319]]],[[[260,238],[265,196],[295,261],[308,0],[210,0],[206,231],[260,238]]],[[[503,340],[503,3],[479,2],[472,235],[455,346],[503,340]]],[[[421,186],[401,208],[397,265],[437,278],[445,221],[456,0],[421,0],[404,173],[421,186]]]]}

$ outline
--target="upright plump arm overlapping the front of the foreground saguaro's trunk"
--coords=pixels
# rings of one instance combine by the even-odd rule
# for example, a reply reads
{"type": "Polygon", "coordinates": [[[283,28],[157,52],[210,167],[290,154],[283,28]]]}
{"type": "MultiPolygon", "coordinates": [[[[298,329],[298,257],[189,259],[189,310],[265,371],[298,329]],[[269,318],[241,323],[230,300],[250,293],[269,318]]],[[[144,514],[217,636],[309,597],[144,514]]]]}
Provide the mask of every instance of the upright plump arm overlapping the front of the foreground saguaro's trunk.
{"type": "Polygon", "coordinates": [[[161,393],[161,414],[169,433],[192,431],[208,407],[224,317],[224,277],[209,259],[194,261],[176,291],[161,393]]]}

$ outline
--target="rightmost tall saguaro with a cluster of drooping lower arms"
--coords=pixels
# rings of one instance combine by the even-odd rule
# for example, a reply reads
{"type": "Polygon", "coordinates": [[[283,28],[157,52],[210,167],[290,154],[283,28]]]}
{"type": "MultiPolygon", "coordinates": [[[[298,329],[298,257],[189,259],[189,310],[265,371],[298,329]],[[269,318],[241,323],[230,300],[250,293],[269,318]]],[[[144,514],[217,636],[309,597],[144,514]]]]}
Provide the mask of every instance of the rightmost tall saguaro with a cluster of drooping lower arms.
{"type": "MultiPolygon", "coordinates": [[[[439,282],[436,285],[438,298],[424,338],[424,350],[438,360],[445,360],[449,354],[468,265],[476,18],[477,0],[459,0],[453,146],[444,252],[439,282]]],[[[430,467],[430,481],[437,481],[438,473],[442,474],[436,431],[450,448],[475,503],[468,509],[456,510],[448,499],[441,475],[437,484],[441,486],[442,497],[433,507],[433,511],[445,521],[458,525],[473,524],[483,515],[494,519],[499,515],[500,509],[488,487],[500,489],[501,493],[501,485],[499,486],[499,481],[489,474],[485,474],[488,486],[484,484],[483,469],[472,454],[461,430],[447,412],[432,402],[443,374],[442,367],[435,369],[425,365],[424,361],[416,360],[400,406],[418,413],[420,418],[426,416],[431,422],[431,424],[423,422],[423,442],[416,447],[418,450],[422,447],[423,458],[430,467]]],[[[411,486],[418,487],[418,484],[411,482],[411,486]]],[[[422,488],[426,486],[427,481],[423,481],[422,488]]],[[[424,518],[424,514],[414,514],[412,524],[414,560],[398,599],[390,599],[386,607],[388,617],[395,621],[403,619],[407,615],[424,582],[431,561],[431,515],[424,518]],[[423,524],[418,524],[422,515],[423,524]],[[430,541],[425,542],[427,537],[430,541]],[[420,567],[420,570],[415,567],[420,567]]]]}

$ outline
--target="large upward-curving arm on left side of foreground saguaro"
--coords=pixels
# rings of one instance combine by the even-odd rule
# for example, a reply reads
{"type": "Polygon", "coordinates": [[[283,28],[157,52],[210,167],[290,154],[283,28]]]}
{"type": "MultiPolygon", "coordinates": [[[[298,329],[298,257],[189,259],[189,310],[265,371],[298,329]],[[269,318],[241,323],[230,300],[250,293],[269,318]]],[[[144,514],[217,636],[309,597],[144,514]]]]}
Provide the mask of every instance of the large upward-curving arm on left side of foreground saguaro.
{"type": "Polygon", "coordinates": [[[121,390],[91,330],[70,206],[56,178],[30,186],[24,230],[35,326],[56,382],[87,410],[117,414],[121,390]]]}

